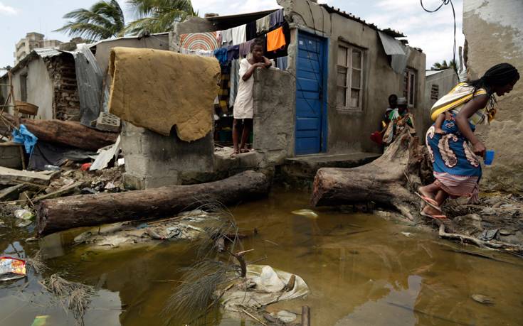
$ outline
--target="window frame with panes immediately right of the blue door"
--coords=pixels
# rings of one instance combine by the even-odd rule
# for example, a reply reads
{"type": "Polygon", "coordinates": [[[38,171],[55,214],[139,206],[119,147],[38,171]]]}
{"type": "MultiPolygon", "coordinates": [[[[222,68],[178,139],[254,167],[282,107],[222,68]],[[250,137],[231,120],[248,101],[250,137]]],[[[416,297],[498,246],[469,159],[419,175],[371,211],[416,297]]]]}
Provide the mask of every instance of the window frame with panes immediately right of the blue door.
{"type": "Polygon", "coordinates": [[[363,48],[359,48],[358,46],[345,43],[345,42],[339,42],[338,48],[337,48],[337,63],[336,63],[336,72],[339,73],[339,68],[342,67],[346,70],[346,76],[345,76],[345,85],[338,85],[338,75],[336,76],[336,107],[339,110],[343,111],[351,111],[351,112],[361,112],[363,111],[363,91],[364,91],[364,65],[365,63],[365,50],[363,48]],[[345,55],[344,63],[345,65],[340,65],[339,61],[339,53],[340,48],[345,49],[345,55]],[[360,63],[359,68],[354,67],[353,63],[353,53],[357,51],[360,53],[360,63]],[[353,71],[359,71],[359,87],[353,86],[353,80],[352,80],[352,73],[353,71]],[[343,105],[341,105],[338,102],[338,90],[339,88],[343,87],[345,89],[345,102],[343,105]],[[358,97],[358,105],[357,106],[351,106],[351,99],[352,99],[352,89],[357,89],[359,91],[359,97],[358,97]]]}

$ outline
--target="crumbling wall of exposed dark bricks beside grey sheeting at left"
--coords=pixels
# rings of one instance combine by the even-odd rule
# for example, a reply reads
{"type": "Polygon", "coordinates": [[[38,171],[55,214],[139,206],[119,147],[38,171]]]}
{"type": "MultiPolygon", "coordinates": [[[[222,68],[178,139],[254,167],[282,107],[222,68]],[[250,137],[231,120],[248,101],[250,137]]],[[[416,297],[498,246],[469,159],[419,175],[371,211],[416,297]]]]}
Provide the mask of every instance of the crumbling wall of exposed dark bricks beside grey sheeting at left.
{"type": "Polygon", "coordinates": [[[80,99],[73,55],[58,55],[46,60],[53,80],[53,116],[59,120],[80,121],[80,99]]]}

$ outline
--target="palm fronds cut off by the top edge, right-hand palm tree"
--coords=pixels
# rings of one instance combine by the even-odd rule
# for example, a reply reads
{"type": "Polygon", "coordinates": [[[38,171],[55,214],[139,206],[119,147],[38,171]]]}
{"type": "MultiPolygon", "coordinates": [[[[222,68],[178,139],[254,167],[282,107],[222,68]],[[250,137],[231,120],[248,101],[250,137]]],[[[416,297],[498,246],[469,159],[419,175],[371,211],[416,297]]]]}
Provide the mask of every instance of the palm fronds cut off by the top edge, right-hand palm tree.
{"type": "Polygon", "coordinates": [[[173,23],[184,21],[187,16],[198,16],[191,0],[130,0],[136,21],[127,25],[132,34],[172,31],[173,23]]]}

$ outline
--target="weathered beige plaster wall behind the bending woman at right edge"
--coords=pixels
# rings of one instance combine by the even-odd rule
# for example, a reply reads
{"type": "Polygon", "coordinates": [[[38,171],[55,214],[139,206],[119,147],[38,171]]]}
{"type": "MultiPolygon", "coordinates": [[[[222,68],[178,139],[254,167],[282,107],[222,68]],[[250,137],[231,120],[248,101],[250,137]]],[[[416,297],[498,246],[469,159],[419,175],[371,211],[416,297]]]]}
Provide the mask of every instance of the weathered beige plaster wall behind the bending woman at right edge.
{"type": "MultiPolygon", "coordinates": [[[[469,77],[481,77],[492,65],[510,63],[523,73],[523,1],[464,0],[463,33],[467,40],[469,77]]],[[[476,133],[487,149],[496,151],[494,164],[483,169],[481,187],[523,191],[523,82],[498,98],[497,115],[490,126],[476,133]]]]}

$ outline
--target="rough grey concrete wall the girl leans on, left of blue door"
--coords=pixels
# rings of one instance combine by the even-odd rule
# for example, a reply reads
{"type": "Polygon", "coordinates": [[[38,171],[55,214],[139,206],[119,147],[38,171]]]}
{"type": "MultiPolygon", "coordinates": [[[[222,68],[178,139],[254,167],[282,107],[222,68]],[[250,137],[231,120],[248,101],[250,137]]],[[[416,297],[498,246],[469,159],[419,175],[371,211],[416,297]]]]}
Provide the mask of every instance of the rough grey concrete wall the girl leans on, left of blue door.
{"type": "Polygon", "coordinates": [[[270,164],[294,156],[295,78],[278,69],[258,69],[254,75],[253,148],[265,153],[270,164]]]}

